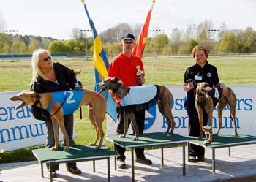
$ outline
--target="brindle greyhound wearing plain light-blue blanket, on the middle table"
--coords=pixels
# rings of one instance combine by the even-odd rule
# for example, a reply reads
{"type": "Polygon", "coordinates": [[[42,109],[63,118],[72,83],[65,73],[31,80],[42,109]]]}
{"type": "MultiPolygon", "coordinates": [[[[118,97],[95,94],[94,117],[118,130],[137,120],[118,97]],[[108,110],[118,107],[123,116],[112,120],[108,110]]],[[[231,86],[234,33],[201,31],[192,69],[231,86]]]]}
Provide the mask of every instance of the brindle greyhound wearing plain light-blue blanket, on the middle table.
{"type": "Polygon", "coordinates": [[[168,122],[167,136],[173,134],[174,127],[176,125],[173,120],[173,114],[171,112],[171,105],[173,104],[173,95],[164,86],[124,86],[118,77],[108,77],[99,83],[102,87],[102,91],[110,89],[118,96],[121,101],[120,112],[124,114],[124,133],[121,137],[126,137],[128,131],[128,120],[130,118],[133,129],[135,131],[134,140],[138,140],[138,126],[135,121],[135,110],[141,110],[142,108],[148,108],[152,105],[158,104],[160,113],[165,116],[168,122]],[[145,89],[144,89],[145,88],[145,89]],[[137,91],[136,91],[137,90],[137,91]],[[154,90],[154,91],[151,91],[154,90]],[[135,92],[133,92],[135,91],[135,92]],[[152,95],[151,100],[146,101],[148,95],[152,95]],[[140,98],[142,97],[142,98],[140,98]]]}

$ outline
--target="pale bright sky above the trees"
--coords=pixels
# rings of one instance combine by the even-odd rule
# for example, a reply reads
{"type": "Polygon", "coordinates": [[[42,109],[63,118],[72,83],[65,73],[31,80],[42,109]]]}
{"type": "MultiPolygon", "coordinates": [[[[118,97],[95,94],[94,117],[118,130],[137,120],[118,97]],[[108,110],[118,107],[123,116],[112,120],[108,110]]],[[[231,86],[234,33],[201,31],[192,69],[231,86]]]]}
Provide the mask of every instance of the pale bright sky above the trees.
{"type": "MultiPolygon", "coordinates": [[[[118,23],[143,24],[151,0],[87,0],[98,33],[118,23]]],[[[172,29],[211,20],[214,29],[256,29],[256,0],[156,0],[149,29],[170,36],[172,29]]],[[[0,0],[6,29],[20,34],[70,39],[72,29],[90,29],[80,0],[0,0]]],[[[153,31],[149,32],[152,36],[153,31]]]]}

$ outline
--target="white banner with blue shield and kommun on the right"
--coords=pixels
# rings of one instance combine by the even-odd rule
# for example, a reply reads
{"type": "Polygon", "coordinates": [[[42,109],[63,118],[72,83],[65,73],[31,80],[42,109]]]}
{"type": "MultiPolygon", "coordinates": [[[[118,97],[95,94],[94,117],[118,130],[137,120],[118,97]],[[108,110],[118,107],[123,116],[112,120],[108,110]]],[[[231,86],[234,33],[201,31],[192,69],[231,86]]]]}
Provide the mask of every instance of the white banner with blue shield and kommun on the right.
{"type": "MultiPolygon", "coordinates": [[[[176,134],[188,135],[188,118],[184,102],[187,92],[181,86],[167,86],[172,92],[174,105],[172,106],[173,119],[176,121],[176,134]]],[[[256,86],[230,86],[237,96],[236,123],[238,134],[256,135],[256,86]]],[[[223,124],[220,134],[234,134],[233,122],[230,119],[230,107],[227,105],[222,114],[223,124]]],[[[116,134],[117,124],[109,116],[107,118],[107,135],[116,134]]],[[[217,109],[214,108],[213,129],[217,132],[219,121],[217,109]]],[[[167,121],[159,113],[157,106],[146,110],[144,132],[165,132],[167,121]]],[[[129,127],[132,133],[132,127],[129,127]]]]}

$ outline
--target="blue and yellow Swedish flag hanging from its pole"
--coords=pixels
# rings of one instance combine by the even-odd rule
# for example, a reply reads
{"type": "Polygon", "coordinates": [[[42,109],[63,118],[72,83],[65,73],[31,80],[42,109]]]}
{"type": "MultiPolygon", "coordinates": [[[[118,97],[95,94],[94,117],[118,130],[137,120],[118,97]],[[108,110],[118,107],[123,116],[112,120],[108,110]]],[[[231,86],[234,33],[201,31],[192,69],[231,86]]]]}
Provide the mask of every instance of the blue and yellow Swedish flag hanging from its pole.
{"type": "MultiPolygon", "coordinates": [[[[108,58],[105,54],[105,51],[103,50],[102,41],[95,29],[93,20],[91,20],[86,4],[84,1],[82,1],[82,3],[84,5],[84,9],[86,10],[86,15],[88,17],[91,30],[93,31],[93,34],[94,34],[94,78],[95,78],[94,90],[99,91],[100,88],[98,83],[104,80],[105,77],[108,77],[109,63],[108,63],[108,58]]],[[[107,100],[108,115],[110,115],[110,117],[113,118],[114,121],[117,121],[116,102],[108,94],[108,91],[103,92],[102,95],[105,96],[105,99],[107,100]]]]}

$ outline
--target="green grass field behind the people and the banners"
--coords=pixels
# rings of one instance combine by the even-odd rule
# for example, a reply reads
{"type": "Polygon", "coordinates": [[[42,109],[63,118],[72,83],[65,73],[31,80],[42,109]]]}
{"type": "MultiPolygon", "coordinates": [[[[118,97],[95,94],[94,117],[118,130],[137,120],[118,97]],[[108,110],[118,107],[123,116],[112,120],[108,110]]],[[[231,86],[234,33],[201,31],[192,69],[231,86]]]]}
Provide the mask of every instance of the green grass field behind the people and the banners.
{"type": "MultiPolygon", "coordinates": [[[[58,59],[61,64],[70,69],[81,69],[79,76],[84,88],[94,88],[94,67],[92,60],[58,59]]],[[[218,57],[208,58],[219,72],[219,79],[227,86],[255,86],[256,85],[256,57],[218,57]]],[[[195,64],[193,58],[144,58],[146,83],[165,86],[181,86],[184,72],[187,67],[195,64]]],[[[0,61],[0,91],[21,91],[30,88],[31,66],[30,61],[0,61]]],[[[75,129],[77,144],[89,144],[94,140],[94,129],[90,124],[87,107],[83,107],[83,120],[75,112],[75,129]]],[[[106,142],[113,148],[111,143],[106,142]]],[[[41,146],[42,147],[42,146],[41,146]]],[[[34,159],[31,149],[1,153],[0,163],[19,162],[34,159]]]]}

